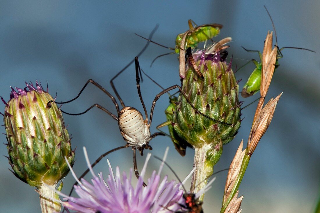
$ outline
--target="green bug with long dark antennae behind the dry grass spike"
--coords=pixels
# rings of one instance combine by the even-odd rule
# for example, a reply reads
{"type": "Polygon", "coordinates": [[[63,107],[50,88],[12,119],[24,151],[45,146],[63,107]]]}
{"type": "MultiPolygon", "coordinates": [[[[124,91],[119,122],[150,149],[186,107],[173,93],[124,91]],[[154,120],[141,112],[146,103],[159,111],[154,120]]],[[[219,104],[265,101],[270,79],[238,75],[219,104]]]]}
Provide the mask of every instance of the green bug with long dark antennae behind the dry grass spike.
{"type": "MultiPolygon", "coordinates": [[[[276,47],[278,48],[278,51],[277,51],[277,57],[276,57],[276,64],[275,64],[275,69],[274,71],[279,67],[279,63],[278,63],[278,59],[282,58],[283,55],[281,53],[281,51],[285,48],[291,48],[291,49],[299,49],[299,50],[308,50],[310,52],[313,52],[315,53],[315,51],[312,51],[312,50],[309,50],[309,49],[306,49],[306,48],[300,48],[300,47],[282,47],[282,48],[279,48],[278,47],[278,40],[277,40],[277,34],[276,34],[276,29],[275,29],[275,26],[274,26],[274,23],[273,23],[273,20],[271,18],[271,15],[270,13],[268,12],[266,6],[264,6],[264,8],[266,9],[269,17],[270,17],[270,20],[272,22],[272,27],[273,27],[273,30],[275,31],[275,36],[276,36],[276,47]]],[[[244,47],[242,47],[244,48],[244,47]]],[[[254,70],[252,71],[251,75],[249,76],[247,82],[245,83],[243,89],[242,89],[242,92],[241,92],[241,96],[246,98],[246,97],[249,97],[249,96],[252,96],[254,94],[256,94],[259,90],[260,90],[260,82],[261,82],[261,69],[262,69],[262,55],[260,53],[260,51],[258,50],[247,50],[244,48],[245,51],[247,52],[257,52],[259,54],[259,58],[260,58],[260,62],[256,61],[255,59],[252,59],[251,61],[254,63],[254,65],[256,66],[254,68],[254,70]]],[[[248,63],[250,63],[251,61],[249,61],[248,63]]],[[[244,64],[241,68],[243,68],[245,65],[247,65],[248,63],[244,64]]],[[[239,68],[238,70],[240,70],[241,68],[239,68]]]]}

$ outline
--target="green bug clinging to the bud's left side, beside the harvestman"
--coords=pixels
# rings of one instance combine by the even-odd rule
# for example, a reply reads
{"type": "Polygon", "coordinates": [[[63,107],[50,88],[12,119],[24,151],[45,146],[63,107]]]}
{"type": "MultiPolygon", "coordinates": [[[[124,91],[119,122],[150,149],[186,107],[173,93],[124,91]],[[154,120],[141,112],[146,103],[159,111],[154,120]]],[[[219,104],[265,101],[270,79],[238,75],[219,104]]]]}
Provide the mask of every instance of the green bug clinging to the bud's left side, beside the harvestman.
{"type": "MultiPolygon", "coordinates": [[[[169,137],[171,138],[175,149],[179,152],[181,156],[186,155],[186,148],[187,146],[191,147],[187,141],[180,138],[179,135],[173,130],[172,120],[173,120],[173,113],[175,111],[177,105],[178,98],[176,96],[170,97],[170,104],[167,109],[164,111],[167,121],[158,125],[156,128],[161,131],[159,128],[168,126],[169,129],[169,137]]],[[[161,131],[162,132],[162,131],[161,131]]]]}

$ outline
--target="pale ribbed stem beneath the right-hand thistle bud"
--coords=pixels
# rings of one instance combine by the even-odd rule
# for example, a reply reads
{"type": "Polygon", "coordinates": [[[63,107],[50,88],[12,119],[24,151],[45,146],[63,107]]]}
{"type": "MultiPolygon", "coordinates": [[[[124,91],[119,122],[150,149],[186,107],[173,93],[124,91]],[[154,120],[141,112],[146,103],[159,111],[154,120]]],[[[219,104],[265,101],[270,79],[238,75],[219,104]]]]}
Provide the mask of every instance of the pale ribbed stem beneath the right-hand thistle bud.
{"type": "MultiPolygon", "coordinates": [[[[196,170],[192,174],[190,192],[197,193],[204,188],[208,182],[207,178],[213,173],[213,168],[208,169],[204,163],[210,148],[209,144],[204,144],[201,148],[195,147],[193,167],[196,167],[196,170]]],[[[199,197],[199,201],[203,201],[203,198],[204,194],[199,197]]]]}

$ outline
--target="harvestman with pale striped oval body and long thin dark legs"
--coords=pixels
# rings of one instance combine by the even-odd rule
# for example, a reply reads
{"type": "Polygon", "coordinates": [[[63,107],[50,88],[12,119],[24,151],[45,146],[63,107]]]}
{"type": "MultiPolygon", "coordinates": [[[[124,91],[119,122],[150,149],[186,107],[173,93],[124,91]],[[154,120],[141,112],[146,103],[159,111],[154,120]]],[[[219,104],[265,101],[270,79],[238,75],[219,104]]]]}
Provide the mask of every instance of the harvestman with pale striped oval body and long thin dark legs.
{"type": "MultiPolygon", "coordinates": [[[[160,98],[161,95],[167,93],[168,91],[172,90],[172,89],[175,89],[175,88],[178,88],[180,90],[180,93],[183,94],[185,97],[186,97],[186,100],[187,102],[192,106],[192,108],[196,111],[196,113],[199,113],[201,114],[202,116],[208,118],[208,119],[211,119],[211,120],[214,120],[216,122],[219,122],[219,123],[222,123],[222,124],[226,124],[226,125],[230,125],[228,123],[224,123],[224,122],[221,122],[221,121],[218,121],[216,119],[212,119],[208,116],[206,116],[205,114],[203,114],[202,112],[198,111],[193,105],[192,103],[190,102],[190,100],[188,99],[188,97],[186,96],[186,94],[182,91],[181,87],[179,85],[173,85],[173,86],[170,86],[166,89],[164,89],[162,92],[158,93],[155,97],[155,99],[153,100],[152,102],[152,106],[151,106],[151,112],[150,112],[150,119],[149,119],[149,122],[148,122],[148,112],[147,112],[147,109],[146,109],[146,106],[143,102],[143,99],[142,99],[142,96],[141,96],[141,91],[140,91],[140,78],[139,78],[139,72],[141,73],[141,70],[140,70],[140,65],[139,65],[139,61],[138,61],[138,57],[135,57],[135,71],[136,71],[136,83],[137,83],[137,89],[138,89],[138,94],[139,94],[139,98],[140,98],[140,101],[141,101],[141,104],[143,106],[143,110],[145,112],[145,115],[146,115],[146,119],[143,119],[143,116],[141,114],[140,111],[138,111],[137,109],[133,108],[133,107],[126,107],[124,105],[124,102],[122,101],[122,99],[120,98],[119,94],[117,93],[116,91],[116,88],[115,86],[113,85],[112,83],[112,79],[110,81],[111,83],[111,86],[112,86],[112,89],[114,90],[117,98],[119,99],[120,103],[121,103],[121,106],[123,107],[122,110],[119,109],[119,105],[115,99],[115,97],[113,97],[106,89],[104,89],[100,84],[98,84],[97,82],[95,82],[94,80],[92,79],[89,79],[86,84],[84,85],[84,87],[81,89],[81,91],[79,92],[79,94],[73,98],[72,100],[70,101],[67,101],[67,102],[56,102],[56,103],[68,103],[68,102],[72,102],[74,100],[76,100],[80,94],[83,92],[84,88],[89,84],[89,83],[92,83],[94,86],[98,87],[100,90],[102,90],[105,94],[107,94],[112,102],[115,104],[115,107],[116,107],[116,111],[117,111],[117,116],[115,114],[113,114],[112,112],[108,111],[106,108],[102,107],[100,104],[93,104],[91,107],[89,107],[86,111],[82,112],[82,113],[76,113],[76,114],[73,114],[73,113],[68,113],[68,112],[65,112],[65,111],[62,111],[64,112],[65,114],[68,114],[68,115],[82,115],[84,113],[86,113],[87,111],[91,110],[93,107],[97,107],[99,108],[100,110],[108,113],[113,119],[117,120],[118,121],[118,125],[119,125],[119,129],[120,129],[120,133],[121,135],[123,136],[124,140],[127,142],[127,144],[125,144],[124,146],[120,146],[120,147],[117,147],[115,149],[112,149],[104,154],[102,154],[92,165],[91,167],[94,167],[103,157],[105,157],[106,155],[108,155],[109,153],[111,152],[114,152],[114,151],[117,151],[117,150],[120,150],[120,149],[123,149],[123,148],[126,148],[126,147],[131,147],[132,150],[133,150],[133,167],[134,167],[134,172],[135,172],[135,175],[137,178],[139,178],[139,172],[138,172],[138,168],[137,168],[137,160],[136,160],[136,150],[138,149],[138,151],[140,152],[141,155],[143,155],[143,150],[144,149],[149,149],[149,150],[152,150],[152,147],[149,145],[149,141],[156,137],[157,135],[164,135],[163,133],[161,132],[156,132],[154,134],[151,135],[150,133],[150,125],[151,125],[151,121],[152,121],[152,116],[153,116],[153,111],[154,111],[154,107],[156,105],[156,101],[160,98]]],[[[117,76],[117,75],[116,75],[117,76]]],[[[115,76],[115,77],[116,77],[115,76]]],[[[48,105],[50,104],[50,102],[48,103],[48,105]]],[[[89,169],[87,169],[80,177],[79,179],[83,178],[87,173],[89,172],[89,169]]],[[[77,182],[74,184],[74,185],[77,185],[77,182]]],[[[73,186],[74,186],[73,185],[73,186]]],[[[144,183],[145,185],[145,183],[144,183]]],[[[72,193],[73,191],[73,188],[70,192],[70,194],[72,193]]]]}

